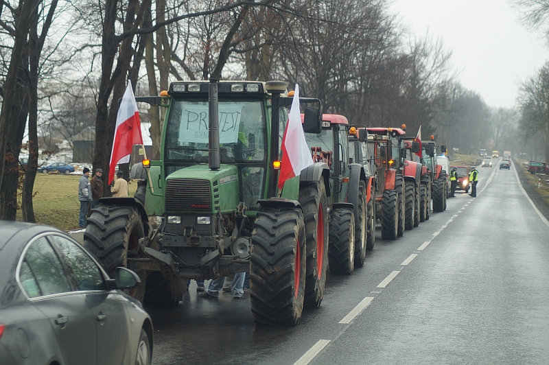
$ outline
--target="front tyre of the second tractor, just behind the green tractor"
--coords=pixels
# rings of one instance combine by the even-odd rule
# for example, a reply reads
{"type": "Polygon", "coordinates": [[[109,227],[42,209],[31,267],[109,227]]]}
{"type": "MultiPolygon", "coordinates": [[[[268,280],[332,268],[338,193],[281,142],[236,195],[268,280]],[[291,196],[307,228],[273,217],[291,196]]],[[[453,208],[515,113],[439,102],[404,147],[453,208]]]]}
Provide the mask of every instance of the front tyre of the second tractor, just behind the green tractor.
{"type": "Polygon", "coordinates": [[[355,214],[353,209],[331,211],[328,260],[332,274],[351,274],[355,270],[355,214]]]}

